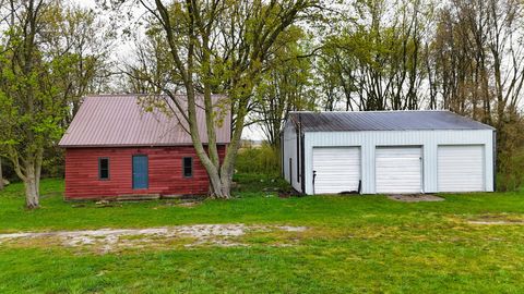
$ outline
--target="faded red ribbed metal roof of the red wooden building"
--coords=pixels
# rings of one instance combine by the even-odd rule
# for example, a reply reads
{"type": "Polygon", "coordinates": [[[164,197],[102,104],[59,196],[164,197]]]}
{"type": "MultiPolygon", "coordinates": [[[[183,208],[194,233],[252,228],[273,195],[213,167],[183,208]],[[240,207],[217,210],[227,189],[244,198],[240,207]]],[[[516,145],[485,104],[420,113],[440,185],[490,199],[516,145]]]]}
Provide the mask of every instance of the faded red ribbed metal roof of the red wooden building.
{"type": "MultiPolygon", "coordinates": [[[[179,96],[184,100],[184,96],[179,96]]],[[[162,111],[154,108],[144,111],[143,101],[153,99],[169,102],[166,97],[146,97],[139,95],[103,95],[85,97],[71,125],[59,143],[61,147],[118,147],[118,146],[177,146],[192,144],[186,131],[187,122],[179,112],[162,111]],[[180,118],[180,120],[179,120],[180,118]],[[183,127],[182,127],[183,126],[183,127]]],[[[224,102],[225,96],[213,96],[215,106],[224,102]]],[[[145,103],[147,105],[147,103],[145,103]]],[[[172,101],[169,102],[170,106],[172,101]]],[[[172,107],[172,109],[176,109],[172,107]]],[[[224,108],[228,109],[227,107],[224,108]]],[[[218,114],[222,120],[216,123],[217,144],[230,140],[230,114],[218,114]]],[[[205,114],[196,108],[200,137],[207,143],[205,114]]]]}

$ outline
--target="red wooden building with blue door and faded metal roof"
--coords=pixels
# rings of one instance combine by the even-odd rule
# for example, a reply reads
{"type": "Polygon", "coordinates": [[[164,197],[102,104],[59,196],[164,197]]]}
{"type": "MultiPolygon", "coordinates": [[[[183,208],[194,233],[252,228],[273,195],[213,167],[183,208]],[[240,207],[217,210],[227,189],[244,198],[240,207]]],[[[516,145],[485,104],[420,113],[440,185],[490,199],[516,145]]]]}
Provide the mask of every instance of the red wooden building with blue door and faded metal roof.
{"type": "MultiPolygon", "coordinates": [[[[144,103],[152,99],[138,95],[84,99],[59,144],[66,149],[66,199],[209,192],[209,177],[196,157],[187,123],[162,98],[156,102],[166,110],[144,111],[144,103]]],[[[222,99],[223,96],[213,97],[215,103],[222,99]]],[[[205,145],[205,114],[201,108],[196,117],[205,145]]],[[[223,158],[230,139],[230,117],[217,117],[216,139],[223,158]]]]}

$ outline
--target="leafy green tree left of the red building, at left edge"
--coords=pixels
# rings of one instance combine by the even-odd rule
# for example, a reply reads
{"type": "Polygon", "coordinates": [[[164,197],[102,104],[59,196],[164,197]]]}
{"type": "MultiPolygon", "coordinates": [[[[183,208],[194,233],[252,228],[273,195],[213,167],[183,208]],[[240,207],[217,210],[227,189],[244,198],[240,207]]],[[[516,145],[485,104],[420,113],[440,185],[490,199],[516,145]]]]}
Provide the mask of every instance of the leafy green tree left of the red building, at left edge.
{"type": "MultiPolygon", "coordinates": [[[[0,152],[24,182],[26,207],[39,207],[45,151],[56,145],[70,115],[80,62],[63,29],[60,1],[9,0],[0,39],[0,152]]],[[[70,35],[69,35],[70,36],[70,35]]]]}

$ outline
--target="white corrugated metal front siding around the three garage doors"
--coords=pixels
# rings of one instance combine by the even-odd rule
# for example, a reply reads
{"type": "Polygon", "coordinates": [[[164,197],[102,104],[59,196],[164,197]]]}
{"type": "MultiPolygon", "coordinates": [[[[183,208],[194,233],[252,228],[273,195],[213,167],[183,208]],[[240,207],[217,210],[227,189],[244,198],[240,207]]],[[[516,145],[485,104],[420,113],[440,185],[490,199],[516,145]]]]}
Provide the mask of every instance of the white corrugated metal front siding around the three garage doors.
{"type": "MultiPolygon", "coordinates": [[[[307,132],[305,134],[306,193],[312,194],[312,149],[317,146],[359,146],[364,194],[376,193],[374,150],[377,146],[422,146],[424,191],[438,192],[437,150],[439,145],[484,145],[486,191],[493,191],[493,132],[472,131],[370,131],[307,132]]],[[[287,146],[285,146],[286,148],[287,146]]]]}

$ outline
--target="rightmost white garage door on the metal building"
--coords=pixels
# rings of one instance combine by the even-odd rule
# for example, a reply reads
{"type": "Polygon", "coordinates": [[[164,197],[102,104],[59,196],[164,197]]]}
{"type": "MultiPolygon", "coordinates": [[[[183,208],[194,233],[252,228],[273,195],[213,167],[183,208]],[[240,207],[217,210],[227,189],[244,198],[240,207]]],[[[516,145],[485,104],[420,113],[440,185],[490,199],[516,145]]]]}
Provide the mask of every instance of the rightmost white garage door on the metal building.
{"type": "Polygon", "coordinates": [[[439,192],[484,191],[484,146],[439,146],[439,192]]]}

